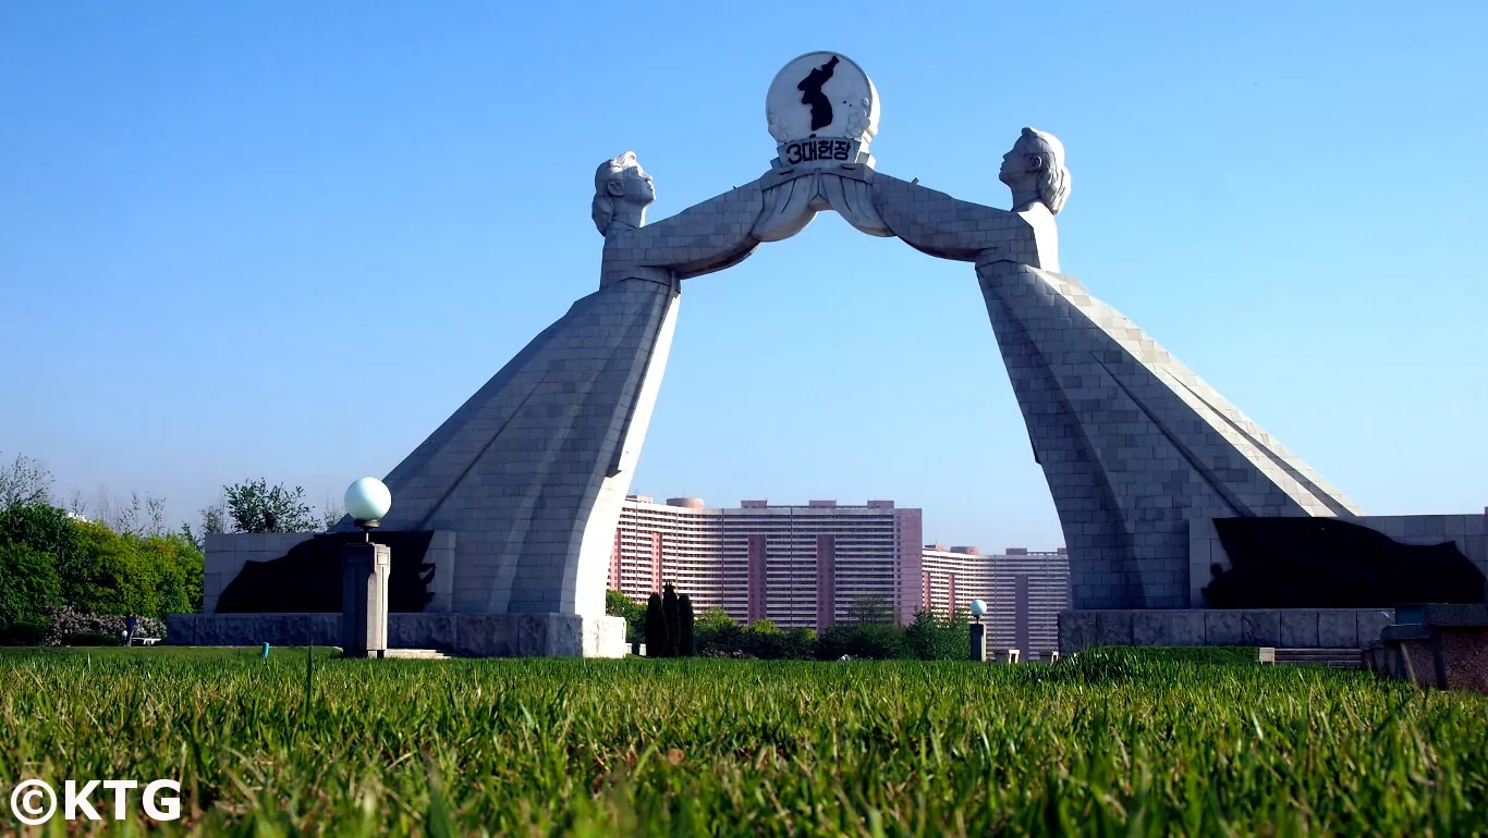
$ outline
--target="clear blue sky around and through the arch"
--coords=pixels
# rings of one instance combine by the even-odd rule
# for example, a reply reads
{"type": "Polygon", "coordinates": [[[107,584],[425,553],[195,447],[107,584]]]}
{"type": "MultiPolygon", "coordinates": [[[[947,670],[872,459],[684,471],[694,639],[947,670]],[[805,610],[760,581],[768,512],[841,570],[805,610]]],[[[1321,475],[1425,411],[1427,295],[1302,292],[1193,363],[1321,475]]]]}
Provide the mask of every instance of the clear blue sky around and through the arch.
{"type": "MultiPolygon", "coordinates": [[[[598,285],[594,168],[662,218],[766,171],[841,51],[878,169],[1007,207],[1366,513],[1488,504],[1488,4],[0,3],[0,456],[65,496],[382,475],[598,285]],[[1140,6],[1140,7],[1135,7],[1140,6]]],[[[970,266],[821,214],[684,285],[634,492],[1062,544],[970,266]]],[[[394,499],[396,504],[396,499],[394,499]]]]}

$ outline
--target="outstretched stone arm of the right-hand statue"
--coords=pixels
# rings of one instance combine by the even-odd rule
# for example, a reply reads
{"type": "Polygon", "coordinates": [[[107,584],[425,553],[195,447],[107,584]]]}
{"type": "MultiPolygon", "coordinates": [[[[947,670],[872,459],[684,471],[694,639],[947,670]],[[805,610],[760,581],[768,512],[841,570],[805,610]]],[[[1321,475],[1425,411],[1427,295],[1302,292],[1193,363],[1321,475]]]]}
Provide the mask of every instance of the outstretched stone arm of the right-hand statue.
{"type": "Polygon", "coordinates": [[[896,236],[930,256],[1039,264],[1033,226],[1018,212],[958,201],[882,172],[873,172],[873,207],[896,236]]]}

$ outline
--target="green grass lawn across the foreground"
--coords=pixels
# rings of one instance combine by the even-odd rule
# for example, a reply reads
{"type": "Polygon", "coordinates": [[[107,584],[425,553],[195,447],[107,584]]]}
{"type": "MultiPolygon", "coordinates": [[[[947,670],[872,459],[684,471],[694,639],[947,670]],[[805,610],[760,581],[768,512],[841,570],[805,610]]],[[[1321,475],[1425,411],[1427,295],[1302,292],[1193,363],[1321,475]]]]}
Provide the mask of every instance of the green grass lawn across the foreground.
{"type": "Polygon", "coordinates": [[[307,703],[304,649],[0,649],[0,792],[176,779],[186,816],[138,825],[199,835],[1488,831],[1488,698],[1254,649],[1012,667],[317,652],[307,703]]]}

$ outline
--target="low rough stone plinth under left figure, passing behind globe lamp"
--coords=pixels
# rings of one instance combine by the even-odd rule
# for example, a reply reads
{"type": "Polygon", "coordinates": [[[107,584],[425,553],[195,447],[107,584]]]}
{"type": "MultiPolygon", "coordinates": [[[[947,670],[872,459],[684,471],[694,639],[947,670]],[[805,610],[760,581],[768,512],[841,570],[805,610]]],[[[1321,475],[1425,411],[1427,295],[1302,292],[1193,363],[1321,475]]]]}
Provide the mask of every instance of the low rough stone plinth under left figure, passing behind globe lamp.
{"type": "MultiPolygon", "coordinates": [[[[171,614],[174,646],[341,645],[339,614],[171,614]]],[[[472,658],[625,657],[625,620],[577,614],[391,614],[391,649],[437,649],[472,658]]]]}

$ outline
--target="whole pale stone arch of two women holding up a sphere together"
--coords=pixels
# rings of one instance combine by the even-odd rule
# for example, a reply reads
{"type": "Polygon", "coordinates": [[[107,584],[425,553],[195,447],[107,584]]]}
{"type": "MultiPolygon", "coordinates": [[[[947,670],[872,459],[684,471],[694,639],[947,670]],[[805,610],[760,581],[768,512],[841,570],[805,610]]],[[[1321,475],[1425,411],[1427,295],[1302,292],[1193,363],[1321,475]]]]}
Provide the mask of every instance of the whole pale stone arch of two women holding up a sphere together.
{"type": "MultiPolygon", "coordinates": [[[[394,502],[384,532],[452,533],[442,542],[445,559],[433,562],[443,593],[418,615],[443,614],[448,624],[411,643],[623,654],[623,623],[604,615],[606,574],[683,282],[738,264],[826,210],[865,233],[897,236],[975,269],[1064,529],[1077,612],[1201,608],[1204,585],[1232,568],[1223,548],[1195,556],[1196,544],[1216,533],[1225,545],[1260,544],[1262,553],[1271,544],[1265,527],[1235,535],[1216,520],[1292,519],[1287,526],[1296,527],[1296,519],[1360,516],[1061,273],[1055,215],[1071,178],[1054,135],[1024,128],[1013,138],[998,172],[1012,208],[997,210],[876,171],[869,144],[878,94],[842,55],[814,52],[787,64],[769,88],[766,116],[778,153],[769,171],[661,221],[646,218],[656,190],[634,153],[600,163],[598,290],[387,475],[394,502]],[[473,636],[482,633],[488,637],[473,636]]],[[[1237,584],[1245,587],[1242,575],[1237,584]]],[[[1481,599],[1481,574],[1476,584],[1481,599]]]]}

